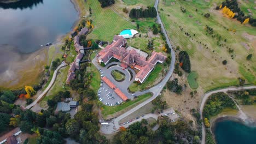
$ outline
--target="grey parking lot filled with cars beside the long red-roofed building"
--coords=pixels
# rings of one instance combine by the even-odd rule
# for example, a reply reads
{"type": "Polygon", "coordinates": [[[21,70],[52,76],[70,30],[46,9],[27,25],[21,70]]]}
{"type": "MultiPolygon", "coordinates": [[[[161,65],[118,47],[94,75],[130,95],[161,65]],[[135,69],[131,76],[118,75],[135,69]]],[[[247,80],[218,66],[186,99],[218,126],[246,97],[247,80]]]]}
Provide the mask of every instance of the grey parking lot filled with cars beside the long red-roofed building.
{"type": "Polygon", "coordinates": [[[115,106],[123,103],[123,100],[111,89],[105,82],[101,82],[101,87],[98,89],[98,100],[104,105],[115,106]]]}

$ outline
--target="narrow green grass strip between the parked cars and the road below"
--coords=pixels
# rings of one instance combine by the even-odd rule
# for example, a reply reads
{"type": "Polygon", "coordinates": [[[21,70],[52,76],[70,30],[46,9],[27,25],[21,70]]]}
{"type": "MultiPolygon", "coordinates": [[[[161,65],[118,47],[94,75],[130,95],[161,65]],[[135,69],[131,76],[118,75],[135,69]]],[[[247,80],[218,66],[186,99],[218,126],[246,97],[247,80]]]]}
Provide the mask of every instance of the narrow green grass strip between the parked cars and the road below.
{"type": "Polygon", "coordinates": [[[146,93],[143,95],[139,95],[136,99],[134,100],[130,100],[127,102],[124,102],[120,105],[117,106],[103,106],[103,110],[102,110],[102,115],[103,116],[107,116],[107,115],[111,115],[115,112],[121,111],[121,110],[127,110],[127,109],[132,109],[132,107],[135,107],[136,105],[142,103],[143,101],[147,100],[148,98],[150,98],[152,96],[151,93],[146,93]]]}

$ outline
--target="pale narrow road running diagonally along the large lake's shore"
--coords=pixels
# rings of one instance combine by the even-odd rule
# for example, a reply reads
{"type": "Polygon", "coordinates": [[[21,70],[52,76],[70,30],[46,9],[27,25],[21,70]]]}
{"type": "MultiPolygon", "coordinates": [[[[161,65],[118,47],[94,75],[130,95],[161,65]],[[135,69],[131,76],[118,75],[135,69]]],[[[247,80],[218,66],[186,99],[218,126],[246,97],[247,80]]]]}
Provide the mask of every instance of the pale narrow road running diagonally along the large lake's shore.
{"type": "Polygon", "coordinates": [[[31,103],[30,105],[26,106],[26,109],[30,109],[32,106],[36,105],[46,94],[47,92],[50,90],[50,88],[53,86],[55,80],[56,80],[56,77],[57,77],[57,72],[62,68],[62,67],[65,67],[67,66],[67,64],[63,61],[59,67],[57,67],[57,69],[54,71],[54,74],[53,74],[53,78],[51,79],[48,87],[46,87],[46,89],[37,97],[36,100],[33,101],[33,103],[31,103]]]}

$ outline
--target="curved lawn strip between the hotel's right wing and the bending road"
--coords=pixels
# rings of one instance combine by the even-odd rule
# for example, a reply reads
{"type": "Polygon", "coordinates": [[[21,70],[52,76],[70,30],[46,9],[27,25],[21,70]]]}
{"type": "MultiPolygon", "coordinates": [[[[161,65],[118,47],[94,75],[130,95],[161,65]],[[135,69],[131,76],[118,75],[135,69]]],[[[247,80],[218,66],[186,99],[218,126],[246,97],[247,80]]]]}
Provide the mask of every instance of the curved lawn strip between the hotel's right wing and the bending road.
{"type": "Polygon", "coordinates": [[[159,77],[161,77],[162,69],[164,69],[164,65],[158,63],[155,65],[153,71],[147,76],[146,80],[143,83],[132,83],[129,87],[131,92],[143,91],[146,88],[152,87],[159,77]]]}

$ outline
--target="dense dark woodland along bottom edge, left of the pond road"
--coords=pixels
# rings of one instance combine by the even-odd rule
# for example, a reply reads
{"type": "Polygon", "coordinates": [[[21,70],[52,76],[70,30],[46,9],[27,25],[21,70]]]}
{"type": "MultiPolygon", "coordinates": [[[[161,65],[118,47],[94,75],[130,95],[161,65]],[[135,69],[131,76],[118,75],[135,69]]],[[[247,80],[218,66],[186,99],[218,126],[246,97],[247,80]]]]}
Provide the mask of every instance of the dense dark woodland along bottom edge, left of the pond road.
{"type": "Polygon", "coordinates": [[[191,129],[185,121],[172,124],[170,118],[161,116],[157,123],[155,131],[147,121],[133,123],[127,129],[121,127],[113,143],[200,143],[200,131],[191,129]]]}

